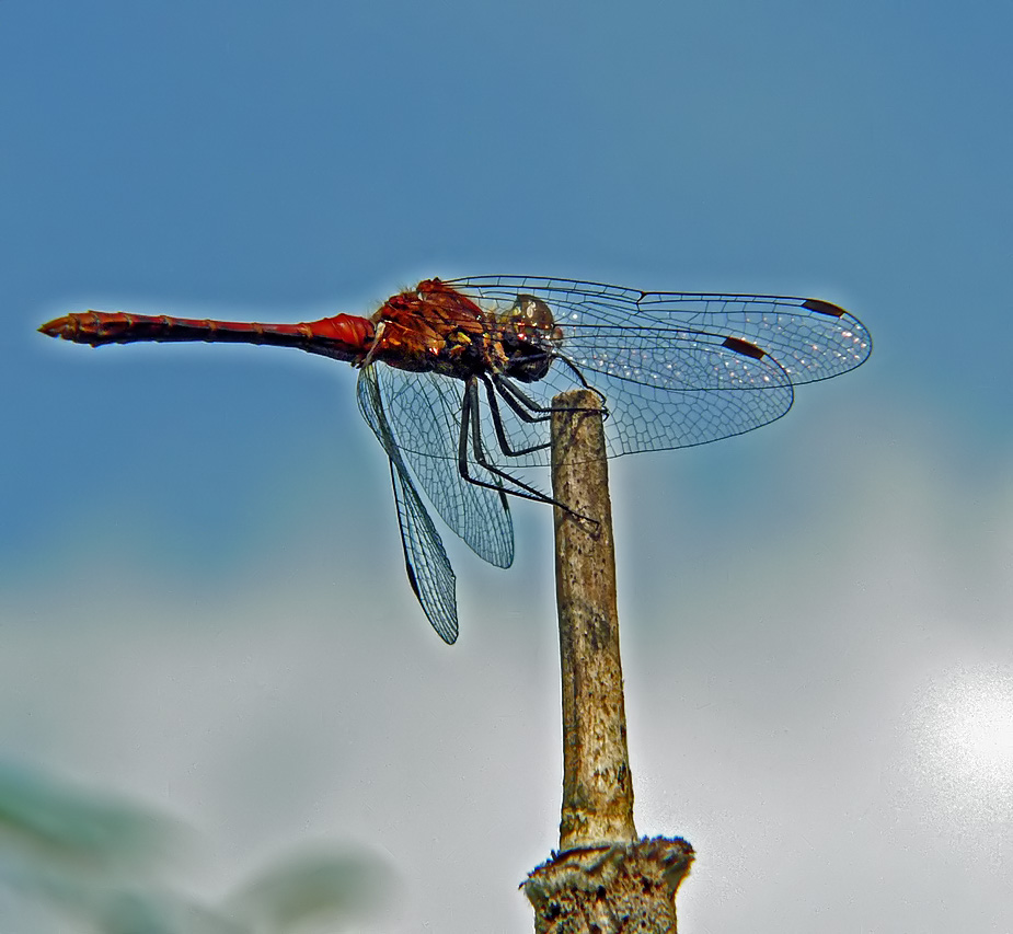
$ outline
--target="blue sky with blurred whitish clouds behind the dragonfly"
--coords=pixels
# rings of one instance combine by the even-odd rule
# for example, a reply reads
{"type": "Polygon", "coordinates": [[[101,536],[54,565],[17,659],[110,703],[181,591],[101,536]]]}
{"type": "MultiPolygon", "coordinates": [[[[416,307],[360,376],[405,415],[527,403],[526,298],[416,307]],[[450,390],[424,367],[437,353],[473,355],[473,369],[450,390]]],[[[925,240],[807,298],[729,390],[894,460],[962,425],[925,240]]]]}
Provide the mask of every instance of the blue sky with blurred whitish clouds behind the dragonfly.
{"type": "Polygon", "coordinates": [[[510,572],[451,546],[448,649],[349,368],[35,327],[371,312],[430,275],[814,295],[865,367],[613,470],[638,827],[700,851],[687,930],[1009,926],[1011,19],[0,4],[0,754],[193,822],[220,886],[352,840],[404,880],[383,930],[522,930],[559,807],[548,511],[514,510],[510,572]]]}

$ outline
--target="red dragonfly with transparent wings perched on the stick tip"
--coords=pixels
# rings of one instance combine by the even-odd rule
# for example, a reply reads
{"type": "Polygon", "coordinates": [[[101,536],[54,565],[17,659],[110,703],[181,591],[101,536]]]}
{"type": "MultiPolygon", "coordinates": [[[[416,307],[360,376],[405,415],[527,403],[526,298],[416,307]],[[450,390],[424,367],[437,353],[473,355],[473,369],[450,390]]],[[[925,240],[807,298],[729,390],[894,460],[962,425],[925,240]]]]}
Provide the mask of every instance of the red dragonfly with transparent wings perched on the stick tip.
{"type": "Polygon", "coordinates": [[[457,581],[422,493],[479,557],[509,567],[508,497],[563,506],[525,470],[549,463],[555,395],[583,388],[601,397],[609,457],[686,448],[774,422],[795,387],[872,353],[862,322],[821,299],[540,276],[424,279],[368,318],[260,324],[85,311],[39,331],[93,347],[295,347],[358,368],[358,406],[388,458],[408,581],[448,644],[458,637],[457,581]]]}

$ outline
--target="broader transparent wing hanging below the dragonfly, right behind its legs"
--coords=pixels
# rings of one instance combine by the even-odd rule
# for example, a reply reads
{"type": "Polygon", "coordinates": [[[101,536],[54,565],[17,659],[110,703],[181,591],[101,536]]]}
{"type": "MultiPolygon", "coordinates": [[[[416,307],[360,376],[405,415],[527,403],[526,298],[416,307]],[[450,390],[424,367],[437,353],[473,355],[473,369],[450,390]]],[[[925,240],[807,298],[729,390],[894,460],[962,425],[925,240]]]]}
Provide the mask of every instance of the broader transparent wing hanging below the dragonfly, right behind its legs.
{"type": "MultiPolygon", "coordinates": [[[[468,483],[460,472],[464,384],[383,364],[367,370],[373,373],[383,400],[388,434],[436,511],[479,557],[509,567],[514,562],[514,524],[499,480],[475,463],[470,445],[465,452],[469,475],[497,488],[468,483]]],[[[498,445],[490,450],[497,451],[498,445]]]]}

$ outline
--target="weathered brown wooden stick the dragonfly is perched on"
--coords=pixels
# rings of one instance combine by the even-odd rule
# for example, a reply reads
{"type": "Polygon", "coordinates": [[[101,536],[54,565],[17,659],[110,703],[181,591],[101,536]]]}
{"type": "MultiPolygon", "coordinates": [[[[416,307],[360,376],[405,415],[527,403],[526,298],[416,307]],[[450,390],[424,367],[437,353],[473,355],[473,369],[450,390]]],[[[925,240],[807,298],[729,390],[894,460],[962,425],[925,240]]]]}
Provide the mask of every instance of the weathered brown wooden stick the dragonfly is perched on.
{"type": "Polygon", "coordinates": [[[560,851],[525,883],[537,934],[675,934],[693,847],[636,840],[615,609],[601,403],[557,395],[552,415],[556,603],[563,674],[560,851]]]}

